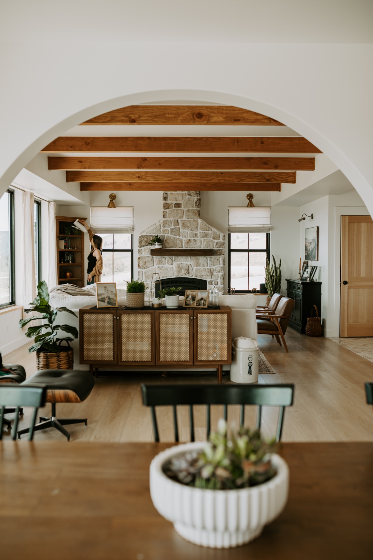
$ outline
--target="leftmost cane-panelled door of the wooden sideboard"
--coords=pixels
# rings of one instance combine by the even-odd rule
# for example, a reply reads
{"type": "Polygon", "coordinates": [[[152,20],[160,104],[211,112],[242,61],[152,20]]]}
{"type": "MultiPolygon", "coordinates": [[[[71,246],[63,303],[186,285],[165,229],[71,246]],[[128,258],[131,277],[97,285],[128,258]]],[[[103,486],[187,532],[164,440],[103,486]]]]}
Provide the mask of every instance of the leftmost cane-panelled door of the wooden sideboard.
{"type": "Polygon", "coordinates": [[[116,309],[79,311],[80,362],[116,364],[116,309]]]}

